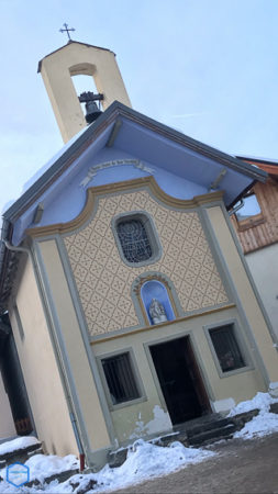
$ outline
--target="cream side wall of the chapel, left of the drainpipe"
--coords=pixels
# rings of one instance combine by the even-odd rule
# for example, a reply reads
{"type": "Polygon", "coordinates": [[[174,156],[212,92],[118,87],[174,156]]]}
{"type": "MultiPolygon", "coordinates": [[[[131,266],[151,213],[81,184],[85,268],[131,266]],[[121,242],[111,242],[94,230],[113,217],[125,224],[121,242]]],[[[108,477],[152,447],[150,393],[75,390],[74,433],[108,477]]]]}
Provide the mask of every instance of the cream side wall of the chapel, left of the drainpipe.
{"type": "Polygon", "coordinates": [[[14,296],[24,339],[12,306],[11,325],[40,440],[48,453],[78,453],[68,408],[31,260],[27,259],[14,296]]]}

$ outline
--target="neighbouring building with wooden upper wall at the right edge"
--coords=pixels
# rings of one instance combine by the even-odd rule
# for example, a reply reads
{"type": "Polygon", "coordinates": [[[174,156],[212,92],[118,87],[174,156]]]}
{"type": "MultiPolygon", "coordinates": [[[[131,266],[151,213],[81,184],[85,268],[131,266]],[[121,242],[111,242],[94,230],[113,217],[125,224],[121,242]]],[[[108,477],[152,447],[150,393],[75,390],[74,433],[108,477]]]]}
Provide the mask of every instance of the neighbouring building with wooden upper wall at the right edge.
{"type": "Polygon", "coordinates": [[[278,335],[278,161],[240,159],[268,173],[266,183],[255,183],[231,220],[278,335]]]}

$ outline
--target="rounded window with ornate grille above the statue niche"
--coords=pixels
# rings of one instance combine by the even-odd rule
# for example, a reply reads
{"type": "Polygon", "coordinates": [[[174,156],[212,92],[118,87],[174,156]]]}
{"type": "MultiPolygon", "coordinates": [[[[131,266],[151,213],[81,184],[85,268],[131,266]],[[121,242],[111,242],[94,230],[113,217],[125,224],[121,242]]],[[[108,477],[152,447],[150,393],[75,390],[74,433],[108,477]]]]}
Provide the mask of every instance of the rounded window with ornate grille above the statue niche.
{"type": "Polygon", "coordinates": [[[116,232],[129,262],[141,262],[152,257],[152,246],[142,220],[122,220],[116,225],[116,232]]]}

